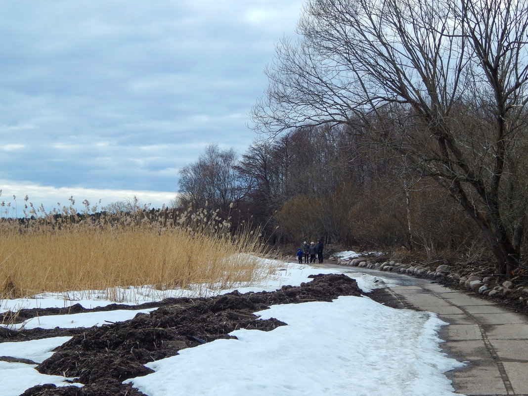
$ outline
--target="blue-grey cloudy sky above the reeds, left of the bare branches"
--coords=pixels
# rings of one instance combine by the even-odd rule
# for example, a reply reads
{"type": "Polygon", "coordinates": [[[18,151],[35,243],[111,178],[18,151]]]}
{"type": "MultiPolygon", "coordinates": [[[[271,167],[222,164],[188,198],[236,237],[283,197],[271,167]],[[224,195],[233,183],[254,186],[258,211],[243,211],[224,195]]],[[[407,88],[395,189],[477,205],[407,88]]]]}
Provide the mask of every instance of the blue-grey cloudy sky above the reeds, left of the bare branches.
{"type": "Polygon", "coordinates": [[[0,201],[168,203],[206,145],[256,136],[262,71],[303,3],[2,2],[0,201]]]}

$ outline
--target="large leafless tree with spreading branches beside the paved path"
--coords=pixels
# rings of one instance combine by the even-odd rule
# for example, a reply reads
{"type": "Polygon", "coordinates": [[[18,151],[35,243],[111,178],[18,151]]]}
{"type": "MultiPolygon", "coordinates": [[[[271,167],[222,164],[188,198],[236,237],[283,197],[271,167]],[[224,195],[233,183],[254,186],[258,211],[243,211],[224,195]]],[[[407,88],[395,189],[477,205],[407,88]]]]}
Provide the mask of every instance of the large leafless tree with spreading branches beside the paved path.
{"type": "Polygon", "coordinates": [[[363,121],[476,222],[501,274],[525,235],[528,0],[308,0],[256,129],[363,121]]]}

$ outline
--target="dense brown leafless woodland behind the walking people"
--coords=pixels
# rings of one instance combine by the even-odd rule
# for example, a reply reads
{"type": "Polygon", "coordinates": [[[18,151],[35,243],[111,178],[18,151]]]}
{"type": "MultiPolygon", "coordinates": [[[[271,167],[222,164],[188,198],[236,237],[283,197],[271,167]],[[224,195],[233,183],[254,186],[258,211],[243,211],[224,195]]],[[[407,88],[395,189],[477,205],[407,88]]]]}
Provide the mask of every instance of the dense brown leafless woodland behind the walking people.
{"type": "Polygon", "coordinates": [[[259,224],[272,242],[480,253],[478,230],[445,190],[401,166],[350,127],[298,128],[240,157],[210,145],[181,170],[177,206],[259,224]]]}

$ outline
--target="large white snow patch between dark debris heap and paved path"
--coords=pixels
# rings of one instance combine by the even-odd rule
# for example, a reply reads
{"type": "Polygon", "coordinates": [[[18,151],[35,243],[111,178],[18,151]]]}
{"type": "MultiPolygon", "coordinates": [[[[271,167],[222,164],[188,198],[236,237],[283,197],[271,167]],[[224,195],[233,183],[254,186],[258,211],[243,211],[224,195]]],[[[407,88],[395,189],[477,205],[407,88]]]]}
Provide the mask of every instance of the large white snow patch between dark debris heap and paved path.
{"type": "Polygon", "coordinates": [[[187,348],[147,364],[156,372],[131,382],[150,396],[172,389],[216,396],[452,394],[439,368],[454,362],[438,352],[442,322],[431,314],[361,297],[276,305],[257,314],[288,326],[234,331],[239,340],[187,348]]]}

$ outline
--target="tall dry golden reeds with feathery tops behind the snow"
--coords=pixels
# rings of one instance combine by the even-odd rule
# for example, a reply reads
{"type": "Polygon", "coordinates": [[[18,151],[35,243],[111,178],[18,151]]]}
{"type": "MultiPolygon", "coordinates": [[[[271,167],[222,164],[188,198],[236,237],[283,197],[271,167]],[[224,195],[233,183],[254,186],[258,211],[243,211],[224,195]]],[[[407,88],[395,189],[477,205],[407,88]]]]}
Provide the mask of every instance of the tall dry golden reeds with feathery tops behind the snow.
{"type": "Polygon", "coordinates": [[[256,257],[265,254],[259,232],[230,232],[216,212],[80,214],[70,206],[46,213],[25,206],[24,218],[0,219],[0,299],[93,290],[120,301],[114,288],[221,289],[270,270],[256,257]]]}

